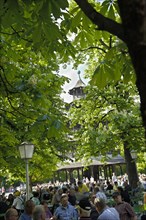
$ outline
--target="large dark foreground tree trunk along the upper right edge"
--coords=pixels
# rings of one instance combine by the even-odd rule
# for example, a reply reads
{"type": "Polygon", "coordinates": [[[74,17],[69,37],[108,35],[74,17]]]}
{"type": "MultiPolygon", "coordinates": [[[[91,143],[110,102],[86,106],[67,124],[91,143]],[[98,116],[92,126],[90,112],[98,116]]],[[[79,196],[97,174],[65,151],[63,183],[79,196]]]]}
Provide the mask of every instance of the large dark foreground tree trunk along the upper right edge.
{"type": "Polygon", "coordinates": [[[118,0],[125,42],[136,72],[146,137],[146,1],[118,0]]]}

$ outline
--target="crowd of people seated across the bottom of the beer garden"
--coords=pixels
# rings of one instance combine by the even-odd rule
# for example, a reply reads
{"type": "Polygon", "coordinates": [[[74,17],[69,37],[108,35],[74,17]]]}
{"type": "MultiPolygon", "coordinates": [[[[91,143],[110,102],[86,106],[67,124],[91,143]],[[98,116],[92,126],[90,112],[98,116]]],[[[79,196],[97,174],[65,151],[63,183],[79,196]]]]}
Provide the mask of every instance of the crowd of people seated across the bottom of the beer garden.
{"type": "Polygon", "coordinates": [[[0,195],[0,220],[137,220],[146,219],[146,174],[132,189],[127,174],[110,180],[91,177],[49,182],[33,187],[32,195],[16,189],[0,195]]]}

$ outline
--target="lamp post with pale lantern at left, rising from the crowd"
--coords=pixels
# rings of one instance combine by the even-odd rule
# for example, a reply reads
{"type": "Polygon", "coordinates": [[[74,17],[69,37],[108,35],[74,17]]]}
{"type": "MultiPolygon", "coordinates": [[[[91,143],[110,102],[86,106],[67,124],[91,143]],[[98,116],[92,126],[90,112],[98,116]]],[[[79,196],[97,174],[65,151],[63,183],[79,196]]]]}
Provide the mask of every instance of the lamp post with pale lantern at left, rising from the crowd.
{"type": "Polygon", "coordinates": [[[26,201],[29,200],[29,165],[28,161],[32,158],[34,151],[34,145],[28,142],[23,142],[19,146],[19,152],[21,159],[25,160],[26,165],[26,201]]]}

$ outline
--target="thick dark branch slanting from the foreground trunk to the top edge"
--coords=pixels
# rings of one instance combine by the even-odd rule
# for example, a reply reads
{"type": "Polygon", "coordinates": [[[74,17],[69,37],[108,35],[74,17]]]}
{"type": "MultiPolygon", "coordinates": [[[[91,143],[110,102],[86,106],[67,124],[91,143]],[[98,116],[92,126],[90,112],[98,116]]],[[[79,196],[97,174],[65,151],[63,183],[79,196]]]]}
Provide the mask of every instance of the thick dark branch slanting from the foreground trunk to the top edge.
{"type": "Polygon", "coordinates": [[[98,29],[107,31],[125,42],[124,30],[121,24],[113,21],[112,19],[104,17],[102,14],[97,12],[88,0],[74,0],[85,15],[98,26],[98,29]]]}

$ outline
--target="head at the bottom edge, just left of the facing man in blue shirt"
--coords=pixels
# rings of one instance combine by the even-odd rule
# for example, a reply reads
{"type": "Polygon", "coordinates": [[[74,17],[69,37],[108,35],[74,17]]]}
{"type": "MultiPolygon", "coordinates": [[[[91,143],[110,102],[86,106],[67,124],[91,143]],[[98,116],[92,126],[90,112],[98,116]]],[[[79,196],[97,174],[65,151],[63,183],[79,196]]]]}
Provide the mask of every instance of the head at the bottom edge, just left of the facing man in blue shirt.
{"type": "Polygon", "coordinates": [[[43,205],[36,205],[33,213],[33,220],[45,220],[46,218],[46,213],[43,205]]]}

